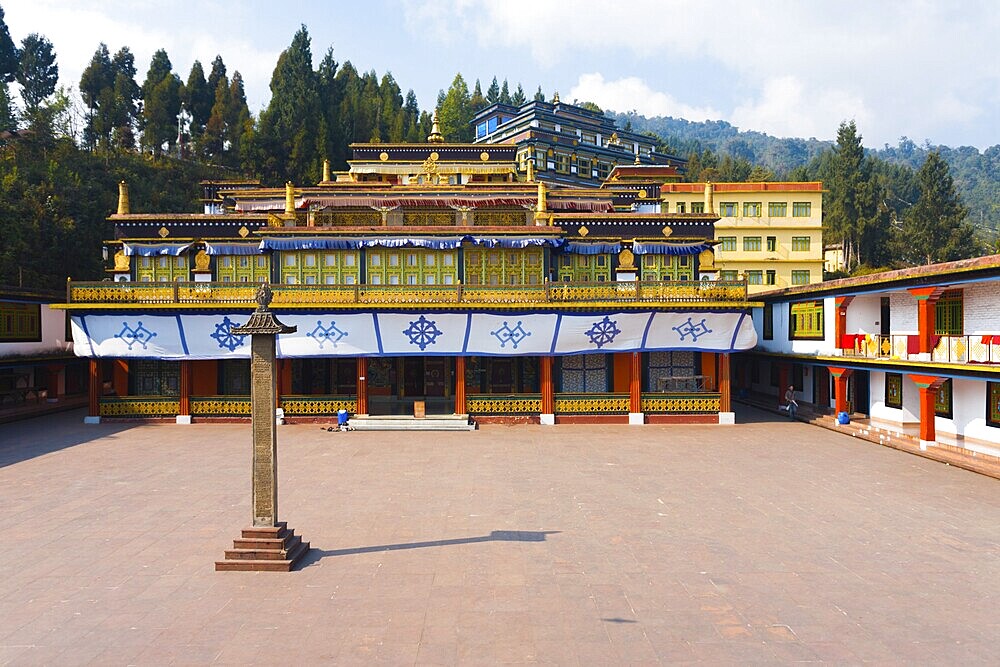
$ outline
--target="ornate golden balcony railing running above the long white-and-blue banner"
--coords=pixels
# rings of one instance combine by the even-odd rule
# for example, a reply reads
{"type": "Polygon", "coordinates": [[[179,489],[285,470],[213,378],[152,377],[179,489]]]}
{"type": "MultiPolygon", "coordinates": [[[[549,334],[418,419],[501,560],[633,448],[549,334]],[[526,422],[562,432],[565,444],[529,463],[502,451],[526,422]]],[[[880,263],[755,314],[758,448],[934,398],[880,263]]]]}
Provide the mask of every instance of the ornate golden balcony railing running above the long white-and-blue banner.
{"type": "MultiPolygon", "coordinates": [[[[745,281],[642,281],[544,283],[542,285],[272,285],[273,307],[304,305],[399,307],[401,304],[571,306],[614,303],[713,303],[741,307],[745,281]]],[[[256,283],[68,282],[68,304],[255,305],[256,283]]]]}

